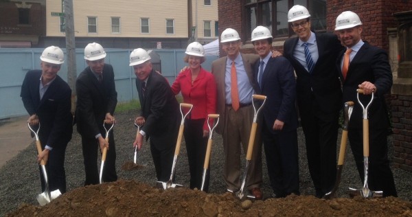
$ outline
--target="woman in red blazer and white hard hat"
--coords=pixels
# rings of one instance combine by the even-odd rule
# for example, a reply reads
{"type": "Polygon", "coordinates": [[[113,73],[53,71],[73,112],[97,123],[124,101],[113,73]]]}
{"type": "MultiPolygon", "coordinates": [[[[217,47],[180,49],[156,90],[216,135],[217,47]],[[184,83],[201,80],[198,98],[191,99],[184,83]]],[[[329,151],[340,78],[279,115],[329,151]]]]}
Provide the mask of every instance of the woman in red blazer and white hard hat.
{"type": "MultiPolygon", "coordinates": [[[[198,43],[187,46],[183,59],[189,66],[179,73],[172,84],[174,94],[183,95],[183,102],[193,104],[192,112],[185,119],[185,144],[189,160],[190,188],[201,189],[203,163],[205,161],[207,137],[207,115],[216,113],[216,83],[214,76],[201,67],[205,62],[205,49],[198,43]]],[[[209,188],[209,170],[203,190],[209,188]]]]}

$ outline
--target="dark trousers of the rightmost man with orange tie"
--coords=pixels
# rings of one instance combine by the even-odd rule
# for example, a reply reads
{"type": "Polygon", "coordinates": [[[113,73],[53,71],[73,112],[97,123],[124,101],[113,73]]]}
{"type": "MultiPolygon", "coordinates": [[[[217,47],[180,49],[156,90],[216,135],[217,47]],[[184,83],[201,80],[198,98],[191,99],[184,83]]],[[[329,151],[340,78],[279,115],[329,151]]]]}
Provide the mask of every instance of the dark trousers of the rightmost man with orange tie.
{"type": "MultiPolygon", "coordinates": [[[[356,168],[363,185],[365,178],[363,170],[363,129],[349,129],[348,131],[350,148],[354,154],[356,168]]],[[[383,191],[383,196],[398,196],[387,154],[387,129],[369,128],[368,187],[370,190],[383,191]]]]}

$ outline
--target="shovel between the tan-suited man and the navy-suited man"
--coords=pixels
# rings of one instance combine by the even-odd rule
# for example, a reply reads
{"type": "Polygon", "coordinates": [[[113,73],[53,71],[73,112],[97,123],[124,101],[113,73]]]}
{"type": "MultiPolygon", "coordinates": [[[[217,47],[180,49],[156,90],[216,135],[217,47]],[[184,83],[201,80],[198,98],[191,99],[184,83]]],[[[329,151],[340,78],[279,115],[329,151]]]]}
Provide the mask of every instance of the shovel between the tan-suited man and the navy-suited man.
{"type": "MultiPolygon", "coordinates": [[[[251,161],[252,159],[253,144],[255,143],[256,128],[258,128],[258,123],[256,121],[258,119],[258,113],[260,109],[262,109],[264,106],[264,102],[266,102],[266,95],[256,95],[256,94],[252,95],[252,104],[253,104],[253,110],[255,111],[255,115],[253,116],[251,135],[249,137],[249,144],[247,146],[246,166],[244,167],[243,181],[242,181],[242,185],[240,185],[240,190],[236,192],[236,196],[240,199],[244,197],[244,185],[246,184],[247,170],[249,168],[249,161],[251,161]],[[260,105],[258,110],[256,110],[256,107],[255,107],[255,99],[263,100],[263,103],[260,105]]],[[[253,195],[248,195],[247,197],[255,198],[255,196],[253,195]]]]}

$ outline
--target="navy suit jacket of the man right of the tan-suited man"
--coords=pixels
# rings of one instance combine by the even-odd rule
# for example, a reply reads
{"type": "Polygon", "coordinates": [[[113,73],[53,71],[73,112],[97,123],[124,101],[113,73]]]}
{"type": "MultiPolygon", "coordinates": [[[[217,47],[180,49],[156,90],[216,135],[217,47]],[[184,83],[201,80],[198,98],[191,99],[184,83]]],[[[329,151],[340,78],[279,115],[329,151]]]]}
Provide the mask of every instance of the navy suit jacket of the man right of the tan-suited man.
{"type": "MultiPolygon", "coordinates": [[[[259,61],[255,64],[255,72],[258,69],[259,61]]],[[[255,73],[255,80],[258,80],[258,73],[255,73]]],[[[266,128],[274,134],[296,130],[296,82],[293,67],[286,58],[269,58],[262,77],[262,87],[259,89],[260,94],[267,97],[262,109],[266,128]],[[275,119],[284,122],[282,131],[273,130],[275,119]]]]}

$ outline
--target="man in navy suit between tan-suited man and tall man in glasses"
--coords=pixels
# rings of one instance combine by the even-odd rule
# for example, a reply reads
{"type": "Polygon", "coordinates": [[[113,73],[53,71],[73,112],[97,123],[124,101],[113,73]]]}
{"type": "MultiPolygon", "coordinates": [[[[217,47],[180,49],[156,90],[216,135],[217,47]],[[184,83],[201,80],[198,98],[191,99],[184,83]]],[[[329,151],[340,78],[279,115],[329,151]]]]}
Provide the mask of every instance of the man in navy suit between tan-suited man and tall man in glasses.
{"type": "Polygon", "coordinates": [[[299,195],[296,82],[293,67],[283,56],[272,58],[272,34],[255,27],[251,41],[260,62],[255,64],[259,94],[266,95],[262,109],[262,138],[273,197],[299,195]]]}

